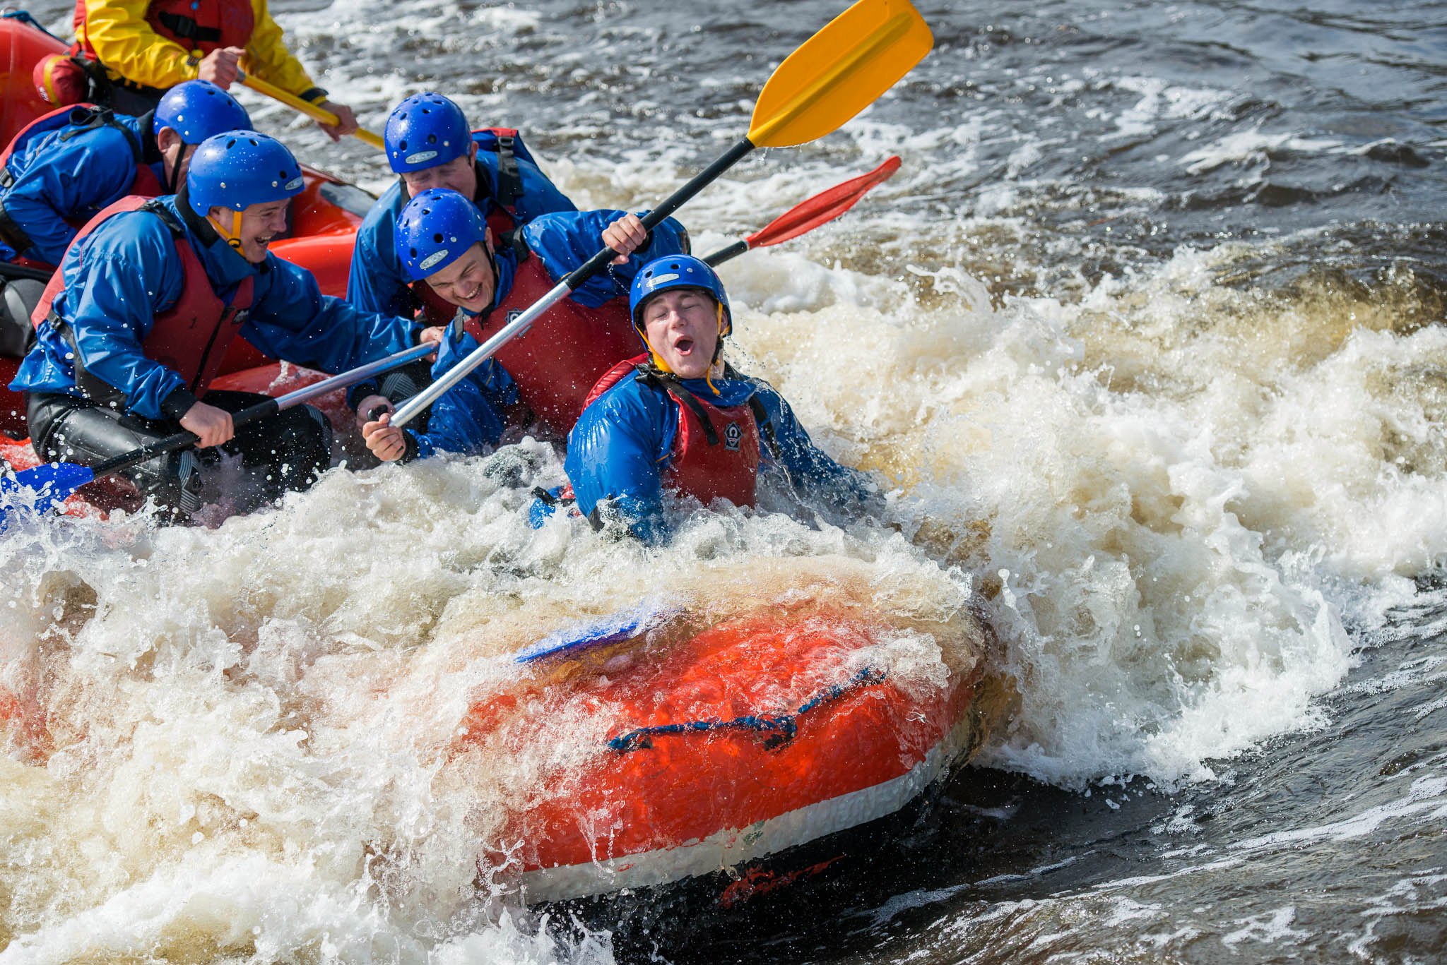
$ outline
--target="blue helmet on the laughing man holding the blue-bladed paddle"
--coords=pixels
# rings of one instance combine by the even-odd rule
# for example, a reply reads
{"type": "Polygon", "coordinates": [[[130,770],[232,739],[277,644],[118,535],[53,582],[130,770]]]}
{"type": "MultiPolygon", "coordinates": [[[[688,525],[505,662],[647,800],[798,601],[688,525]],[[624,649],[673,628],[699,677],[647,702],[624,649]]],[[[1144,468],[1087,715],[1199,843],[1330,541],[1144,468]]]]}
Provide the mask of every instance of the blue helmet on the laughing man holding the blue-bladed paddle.
{"type": "Polygon", "coordinates": [[[201,142],[185,174],[191,210],[205,217],[211,208],[240,211],[250,204],[301,194],[301,165],[287,145],[255,130],[229,130],[201,142]]]}

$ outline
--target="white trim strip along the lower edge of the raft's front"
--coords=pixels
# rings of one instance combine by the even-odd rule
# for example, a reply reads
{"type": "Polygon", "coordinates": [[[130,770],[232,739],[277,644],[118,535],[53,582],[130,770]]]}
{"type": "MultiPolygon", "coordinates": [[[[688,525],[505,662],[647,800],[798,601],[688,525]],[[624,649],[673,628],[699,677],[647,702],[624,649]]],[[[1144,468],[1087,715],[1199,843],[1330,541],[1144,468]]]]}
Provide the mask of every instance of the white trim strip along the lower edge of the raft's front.
{"type": "Polygon", "coordinates": [[[537,904],[682,881],[867,825],[893,815],[929,787],[962,747],[968,725],[967,715],[945,739],[929,748],[923,761],[899,777],[765,817],[748,828],[724,829],[703,841],[674,848],[524,871],[519,875],[522,897],[528,904],[537,904]]]}

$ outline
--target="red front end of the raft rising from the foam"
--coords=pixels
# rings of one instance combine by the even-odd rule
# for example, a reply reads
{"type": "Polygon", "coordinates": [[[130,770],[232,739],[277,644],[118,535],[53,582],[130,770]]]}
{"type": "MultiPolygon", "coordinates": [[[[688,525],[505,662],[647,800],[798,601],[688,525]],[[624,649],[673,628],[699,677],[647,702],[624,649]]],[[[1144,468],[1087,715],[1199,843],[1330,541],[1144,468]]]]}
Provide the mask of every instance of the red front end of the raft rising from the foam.
{"type": "Polygon", "coordinates": [[[770,612],[606,648],[473,705],[463,748],[525,741],[538,715],[612,723],[586,765],[508,817],[491,864],[518,872],[530,903],[564,900],[734,868],[899,810],[980,747],[990,702],[978,664],[891,677],[871,658],[888,632],[770,612]]]}

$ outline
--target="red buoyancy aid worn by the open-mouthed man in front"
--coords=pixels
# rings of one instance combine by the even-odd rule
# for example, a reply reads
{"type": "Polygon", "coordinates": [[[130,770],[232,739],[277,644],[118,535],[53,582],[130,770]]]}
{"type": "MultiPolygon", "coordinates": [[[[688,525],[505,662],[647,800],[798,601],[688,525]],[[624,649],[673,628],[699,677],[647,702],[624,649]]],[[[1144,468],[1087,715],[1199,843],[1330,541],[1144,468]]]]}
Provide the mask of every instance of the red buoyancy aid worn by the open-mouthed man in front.
{"type": "Polygon", "coordinates": [[[650,378],[653,369],[645,352],[611,367],[587,394],[583,408],[635,372],[679,405],[679,428],[673,435],[663,486],[682,496],[693,496],[705,506],[715,499],[752,506],[760,456],[758,420],[752,407],[747,402],[718,407],[689,392],[676,379],[650,378]]]}

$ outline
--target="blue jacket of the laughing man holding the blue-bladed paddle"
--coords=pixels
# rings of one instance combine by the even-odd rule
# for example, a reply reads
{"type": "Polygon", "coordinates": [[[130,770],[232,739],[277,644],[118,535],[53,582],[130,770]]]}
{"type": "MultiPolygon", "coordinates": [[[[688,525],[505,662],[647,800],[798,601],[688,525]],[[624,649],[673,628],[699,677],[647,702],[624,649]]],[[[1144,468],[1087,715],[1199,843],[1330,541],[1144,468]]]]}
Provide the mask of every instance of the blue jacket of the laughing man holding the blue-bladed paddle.
{"type": "MultiPolygon", "coordinates": [[[[362,313],[340,298],[323,295],[307,269],[268,255],[252,265],[175,195],[159,198],[184,226],[211,289],[230,299],[252,278],[252,304],[239,334],[263,353],[323,372],[344,372],[412,344],[412,323],[396,315],[362,313]]],[[[75,353],[85,372],[114,386],[127,412],[178,420],[195,395],[174,369],[143,353],[155,317],[177,304],[184,269],[171,229],[156,214],[114,214],[72,246],[61,260],[65,289],[55,298],[58,315],[74,337],[49,318],[36,328],[38,341],[25,357],[10,389],[61,392],[84,398],[77,388],[75,353]]]]}

